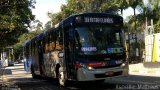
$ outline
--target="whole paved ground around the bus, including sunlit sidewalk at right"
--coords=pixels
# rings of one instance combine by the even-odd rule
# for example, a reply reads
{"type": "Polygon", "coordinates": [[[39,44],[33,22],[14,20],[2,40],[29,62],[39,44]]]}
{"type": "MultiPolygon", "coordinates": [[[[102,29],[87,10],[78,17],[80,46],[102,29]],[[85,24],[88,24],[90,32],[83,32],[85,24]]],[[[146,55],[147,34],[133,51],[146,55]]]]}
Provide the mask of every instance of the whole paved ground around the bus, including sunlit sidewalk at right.
{"type": "MultiPolygon", "coordinates": [[[[104,84],[81,83],[80,85],[69,87],[59,87],[55,80],[52,79],[32,79],[31,74],[25,72],[23,68],[23,64],[6,67],[5,75],[3,76],[4,85],[16,88],[14,90],[160,90],[160,77],[157,73],[159,65],[156,66],[154,64],[131,64],[129,66],[129,76],[108,78],[104,84]]],[[[6,88],[1,88],[0,90],[6,90],[6,88]]]]}

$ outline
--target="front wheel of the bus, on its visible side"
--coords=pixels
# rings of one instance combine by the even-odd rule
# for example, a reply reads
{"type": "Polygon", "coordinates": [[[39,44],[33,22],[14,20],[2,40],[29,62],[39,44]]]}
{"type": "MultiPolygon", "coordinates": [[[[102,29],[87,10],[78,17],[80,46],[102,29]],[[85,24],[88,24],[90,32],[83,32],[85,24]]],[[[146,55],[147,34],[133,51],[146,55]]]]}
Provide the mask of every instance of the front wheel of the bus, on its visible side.
{"type": "Polygon", "coordinates": [[[64,71],[62,70],[62,68],[59,68],[59,76],[58,76],[58,80],[59,80],[59,85],[60,86],[68,86],[68,81],[66,80],[64,71]]]}

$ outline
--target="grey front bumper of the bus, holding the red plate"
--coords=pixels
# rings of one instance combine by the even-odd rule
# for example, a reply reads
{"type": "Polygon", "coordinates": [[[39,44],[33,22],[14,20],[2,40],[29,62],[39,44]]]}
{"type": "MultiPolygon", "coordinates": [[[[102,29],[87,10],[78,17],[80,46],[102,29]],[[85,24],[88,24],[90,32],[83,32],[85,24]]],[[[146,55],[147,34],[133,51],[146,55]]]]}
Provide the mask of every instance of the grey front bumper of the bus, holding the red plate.
{"type": "Polygon", "coordinates": [[[109,77],[127,76],[128,67],[114,67],[89,70],[86,68],[79,68],[77,71],[78,81],[95,81],[102,80],[109,77]]]}

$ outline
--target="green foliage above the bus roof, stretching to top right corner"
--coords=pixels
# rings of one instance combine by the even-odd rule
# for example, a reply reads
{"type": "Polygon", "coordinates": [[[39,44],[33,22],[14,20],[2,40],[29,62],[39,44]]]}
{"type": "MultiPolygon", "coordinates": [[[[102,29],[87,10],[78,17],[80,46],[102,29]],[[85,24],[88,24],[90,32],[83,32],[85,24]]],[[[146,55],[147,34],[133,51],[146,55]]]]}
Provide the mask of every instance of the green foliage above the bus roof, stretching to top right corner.
{"type": "MultiPolygon", "coordinates": [[[[146,17],[148,21],[153,19],[155,32],[160,32],[160,1],[148,0],[147,5],[143,0],[67,0],[66,5],[61,6],[61,11],[58,13],[49,13],[48,16],[52,19],[52,24],[55,25],[64,18],[77,13],[83,12],[111,12],[117,13],[128,7],[132,7],[133,11],[138,10],[140,14],[129,16],[125,21],[126,26],[129,26],[132,32],[142,32],[145,29],[146,17]],[[136,25],[136,27],[135,27],[136,25]]],[[[150,24],[150,23],[149,23],[150,24]]]]}

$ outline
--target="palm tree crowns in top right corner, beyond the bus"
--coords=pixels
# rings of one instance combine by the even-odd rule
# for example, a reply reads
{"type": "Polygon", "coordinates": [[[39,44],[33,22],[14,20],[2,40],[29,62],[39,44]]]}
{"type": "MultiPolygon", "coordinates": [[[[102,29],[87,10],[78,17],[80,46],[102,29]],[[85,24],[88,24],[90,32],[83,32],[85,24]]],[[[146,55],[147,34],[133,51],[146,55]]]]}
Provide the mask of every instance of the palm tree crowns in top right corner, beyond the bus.
{"type": "MultiPolygon", "coordinates": [[[[145,24],[146,24],[146,18],[150,21],[151,19],[153,19],[154,21],[154,30],[155,32],[159,32],[159,16],[160,16],[160,7],[159,7],[159,0],[149,0],[148,4],[145,5],[145,3],[143,1],[139,1],[137,3],[137,10],[140,12],[140,14],[136,15],[136,18],[134,16],[132,16],[132,18],[130,18],[129,20],[129,26],[131,28],[131,30],[135,30],[135,24],[136,24],[136,29],[137,31],[141,32],[143,31],[145,28],[145,24]],[[135,19],[136,23],[135,23],[135,19]],[[142,27],[143,26],[143,27],[142,27]]],[[[134,7],[133,7],[134,8],[134,7]]],[[[150,25],[150,23],[148,23],[148,25],[150,25]]]]}

